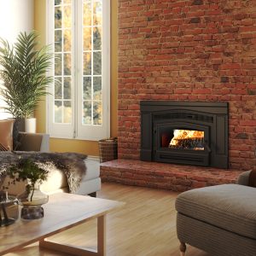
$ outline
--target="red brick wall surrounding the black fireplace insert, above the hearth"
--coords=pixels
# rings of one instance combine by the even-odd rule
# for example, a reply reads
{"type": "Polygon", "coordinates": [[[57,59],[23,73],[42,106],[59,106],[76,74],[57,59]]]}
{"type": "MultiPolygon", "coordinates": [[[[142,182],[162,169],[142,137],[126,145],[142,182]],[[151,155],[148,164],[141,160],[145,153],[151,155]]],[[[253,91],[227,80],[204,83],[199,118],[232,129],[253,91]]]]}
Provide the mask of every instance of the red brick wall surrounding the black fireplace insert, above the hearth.
{"type": "Polygon", "coordinates": [[[256,166],[256,1],[119,0],[119,158],[141,100],[230,102],[230,167],[256,166]]]}

